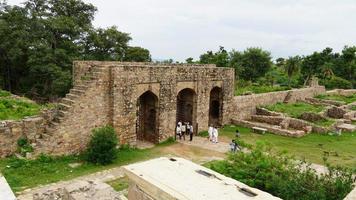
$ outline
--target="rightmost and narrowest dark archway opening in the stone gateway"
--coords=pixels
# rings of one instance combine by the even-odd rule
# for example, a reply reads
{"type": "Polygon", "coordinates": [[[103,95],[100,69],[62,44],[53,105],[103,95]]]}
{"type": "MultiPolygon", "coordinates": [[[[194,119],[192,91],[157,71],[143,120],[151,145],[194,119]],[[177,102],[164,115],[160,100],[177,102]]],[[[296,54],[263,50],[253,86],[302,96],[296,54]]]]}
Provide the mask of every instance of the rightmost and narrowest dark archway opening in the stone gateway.
{"type": "Polygon", "coordinates": [[[210,91],[209,125],[221,126],[222,122],[222,90],[214,87],[210,91]]]}

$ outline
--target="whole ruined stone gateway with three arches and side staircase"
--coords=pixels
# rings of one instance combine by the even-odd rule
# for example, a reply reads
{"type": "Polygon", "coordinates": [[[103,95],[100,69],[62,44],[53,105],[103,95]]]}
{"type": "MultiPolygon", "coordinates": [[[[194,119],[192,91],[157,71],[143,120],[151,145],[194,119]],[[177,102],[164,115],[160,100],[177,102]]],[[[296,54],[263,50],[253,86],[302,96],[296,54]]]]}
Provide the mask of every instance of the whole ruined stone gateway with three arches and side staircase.
{"type": "Polygon", "coordinates": [[[38,151],[62,154],[82,150],[91,130],[112,125],[121,143],[158,143],[174,137],[178,121],[194,131],[209,123],[229,123],[234,71],[215,65],[75,62],[74,88],[59,115],[35,141],[38,151]]]}

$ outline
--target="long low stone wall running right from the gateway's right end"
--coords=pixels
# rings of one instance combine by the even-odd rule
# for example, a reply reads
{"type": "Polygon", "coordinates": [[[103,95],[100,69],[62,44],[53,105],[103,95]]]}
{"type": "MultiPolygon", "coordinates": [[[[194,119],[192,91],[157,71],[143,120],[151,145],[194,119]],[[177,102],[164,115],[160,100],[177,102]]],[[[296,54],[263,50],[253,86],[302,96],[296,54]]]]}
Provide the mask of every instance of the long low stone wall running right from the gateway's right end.
{"type": "Polygon", "coordinates": [[[318,86],[263,94],[235,96],[232,103],[231,119],[249,119],[251,115],[256,114],[257,106],[283,102],[288,93],[290,95],[289,102],[295,102],[297,100],[303,100],[308,97],[323,94],[325,93],[325,87],[318,86]]]}

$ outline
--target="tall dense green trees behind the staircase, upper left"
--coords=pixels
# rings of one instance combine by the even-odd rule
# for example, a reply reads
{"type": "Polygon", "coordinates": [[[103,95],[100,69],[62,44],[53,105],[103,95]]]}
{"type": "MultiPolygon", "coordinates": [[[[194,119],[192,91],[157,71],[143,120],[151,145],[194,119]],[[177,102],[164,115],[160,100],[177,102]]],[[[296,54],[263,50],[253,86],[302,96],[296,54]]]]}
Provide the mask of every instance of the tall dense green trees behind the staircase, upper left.
{"type": "Polygon", "coordinates": [[[151,61],[128,33],[94,28],[96,11],[81,0],[0,0],[0,87],[50,100],[71,87],[73,60],[151,61]]]}

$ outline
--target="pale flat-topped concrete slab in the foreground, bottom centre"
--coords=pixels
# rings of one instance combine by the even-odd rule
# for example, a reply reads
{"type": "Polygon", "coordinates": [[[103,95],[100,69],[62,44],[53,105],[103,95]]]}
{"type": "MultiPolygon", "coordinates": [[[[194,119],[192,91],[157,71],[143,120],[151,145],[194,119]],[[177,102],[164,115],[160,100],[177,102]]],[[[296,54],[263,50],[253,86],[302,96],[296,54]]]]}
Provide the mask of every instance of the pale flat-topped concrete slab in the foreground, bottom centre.
{"type": "Polygon", "coordinates": [[[161,157],[123,168],[130,179],[129,199],[280,199],[183,158],[161,157]]]}

